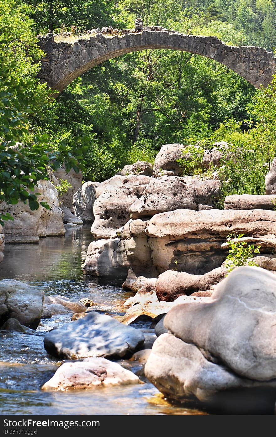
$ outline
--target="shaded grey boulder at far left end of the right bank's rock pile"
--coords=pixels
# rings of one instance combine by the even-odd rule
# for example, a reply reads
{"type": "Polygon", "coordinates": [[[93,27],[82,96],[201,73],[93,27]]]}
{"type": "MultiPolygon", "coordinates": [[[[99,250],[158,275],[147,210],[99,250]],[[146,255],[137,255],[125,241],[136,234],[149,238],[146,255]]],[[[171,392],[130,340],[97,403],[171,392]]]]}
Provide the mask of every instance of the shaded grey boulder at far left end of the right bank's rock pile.
{"type": "Polygon", "coordinates": [[[73,195],[73,214],[83,222],[94,222],[93,205],[99,182],[85,182],[73,195]]]}

